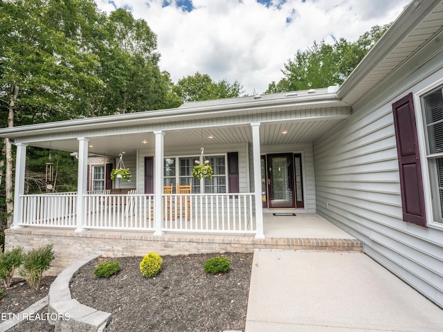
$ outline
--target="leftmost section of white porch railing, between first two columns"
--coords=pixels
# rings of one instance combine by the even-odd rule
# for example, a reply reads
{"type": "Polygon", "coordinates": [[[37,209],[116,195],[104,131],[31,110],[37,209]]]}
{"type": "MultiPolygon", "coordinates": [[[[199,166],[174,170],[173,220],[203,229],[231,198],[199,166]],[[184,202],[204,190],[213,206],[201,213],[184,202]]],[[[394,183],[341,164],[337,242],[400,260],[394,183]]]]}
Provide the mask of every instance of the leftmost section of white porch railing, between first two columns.
{"type": "Polygon", "coordinates": [[[77,192],[23,195],[22,226],[75,227],[77,192]]]}

